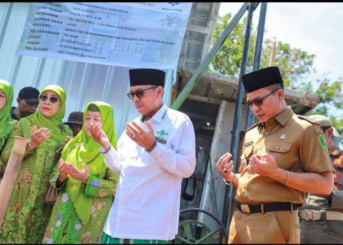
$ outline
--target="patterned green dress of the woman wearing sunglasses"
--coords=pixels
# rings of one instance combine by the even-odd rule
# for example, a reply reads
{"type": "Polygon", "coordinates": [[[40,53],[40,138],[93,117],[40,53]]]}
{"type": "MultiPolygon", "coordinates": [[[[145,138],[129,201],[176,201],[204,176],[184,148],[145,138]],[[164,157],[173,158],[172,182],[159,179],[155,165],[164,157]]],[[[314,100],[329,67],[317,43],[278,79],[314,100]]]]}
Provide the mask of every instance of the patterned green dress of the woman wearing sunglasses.
{"type": "MultiPolygon", "coordinates": [[[[1,171],[5,170],[15,137],[29,139],[33,125],[28,119],[22,118],[13,128],[2,150],[1,171]]],[[[65,126],[64,134],[73,135],[73,132],[65,126]]],[[[59,147],[61,147],[60,142],[50,137],[32,152],[25,151],[2,221],[0,243],[38,244],[42,242],[52,208],[43,203],[43,197],[49,187],[50,174],[58,160],[55,159],[55,151],[59,147]]]]}

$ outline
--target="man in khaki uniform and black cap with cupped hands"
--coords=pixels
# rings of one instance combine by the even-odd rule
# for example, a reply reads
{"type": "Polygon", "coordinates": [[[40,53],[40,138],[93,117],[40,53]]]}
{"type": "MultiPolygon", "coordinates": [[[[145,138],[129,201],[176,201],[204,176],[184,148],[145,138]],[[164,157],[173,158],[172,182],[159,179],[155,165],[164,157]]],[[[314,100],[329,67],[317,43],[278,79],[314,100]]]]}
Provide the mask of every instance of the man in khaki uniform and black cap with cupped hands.
{"type": "Polygon", "coordinates": [[[333,188],[323,131],[287,106],[277,67],[241,78],[246,104],[260,122],[246,130],[241,173],[232,172],[229,152],[217,162],[224,182],[237,187],[228,243],[299,243],[296,209],[305,193],[329,195],[333,188]]]}

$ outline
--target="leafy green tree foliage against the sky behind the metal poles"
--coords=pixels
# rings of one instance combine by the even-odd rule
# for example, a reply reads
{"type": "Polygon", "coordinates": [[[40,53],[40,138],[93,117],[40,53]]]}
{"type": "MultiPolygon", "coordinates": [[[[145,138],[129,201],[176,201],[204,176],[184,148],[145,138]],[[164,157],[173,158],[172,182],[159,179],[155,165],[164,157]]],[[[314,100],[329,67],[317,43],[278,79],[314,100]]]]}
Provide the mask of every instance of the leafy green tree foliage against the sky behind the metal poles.
{"type": "MultiPolygon", "coordinates": [[[[215,26],[213,41],[214,44],[221,36],[221,32],[229,24],[231,13],[224,16],[218,16],[215,26]]],[[[218,51],[216,56],[207,68],[208,72],[220,73],[229,76],[238,77],[242,62],[243,45],[244,45],[244,29],[246,18],[242,23],[238,23],[231,34],[226,38],[223,46],[218,51]]],[[[254,53],[257,39],[257,28],[253,30],[251,26],[251,34],[249,41],[248,62],[246,73],[252,72],[254,53]]],[[[266,30],[265,30],[266,31],[266,30]]],[[[263,42],[260,67],[269,66],[270,52],[272,42],[275,40],[266,39],[263,42]]],[[[321,98],[321,103],[315,109],[311,110],[307,115],[321,114],[328,117],[333,123],[341,136],[343,144],[343,118],[337,115],[343,115],[343,99],[342,84],[343,78],[338,81],[331,82],[326,76],[316,81],[304,81],[305,77],[310,73],[316,73],[313,67],[315,54],[308,54],[301,49],[292,48],[289,44],[277,42],[277,48],[274,54],[274,65],[279,67],[284,80],[284,86],[301,92],[317,94],[321,98]],[[314,88],[317,88],[314,91],[314,88]],[[339,111],[341,113],[339,114],[339,111]]]]}

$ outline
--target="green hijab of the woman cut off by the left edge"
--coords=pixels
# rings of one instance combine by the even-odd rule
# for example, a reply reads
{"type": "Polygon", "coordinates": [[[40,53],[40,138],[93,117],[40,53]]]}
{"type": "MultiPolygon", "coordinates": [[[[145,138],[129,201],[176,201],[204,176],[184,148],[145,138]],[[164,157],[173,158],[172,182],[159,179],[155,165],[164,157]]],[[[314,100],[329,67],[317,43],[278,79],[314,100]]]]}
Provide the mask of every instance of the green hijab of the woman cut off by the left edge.
{"type": "Polygon", "coordinates": [[[13,87],[12,85],[0,79],[0,90],[6,95],[6,104],[0,110],[0,152],[5,145],[6,139],[11,132],[14,125],[17,123],[17,120],[11,119],[11,114],[9,111],[11,110],[12,102],[13,102],[13,87]]]}

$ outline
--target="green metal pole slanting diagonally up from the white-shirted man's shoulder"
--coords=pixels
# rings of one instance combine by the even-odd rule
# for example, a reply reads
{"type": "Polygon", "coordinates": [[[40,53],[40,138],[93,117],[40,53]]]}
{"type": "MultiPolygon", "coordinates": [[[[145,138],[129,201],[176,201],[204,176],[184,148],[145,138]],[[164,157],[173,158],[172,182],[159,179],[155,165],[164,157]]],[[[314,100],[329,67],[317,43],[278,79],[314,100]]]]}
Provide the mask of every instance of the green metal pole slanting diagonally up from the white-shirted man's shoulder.
{"type": "Polygon", "coordinates": [[[199,80],[200,76],[208,65],[211,63],[214,56],[216,56],[218,50],[223,45],[224,41],[228,37],[228,35],[231,33],[231,31],[234,29],[234,27],[237,25],[237,23],[242,18],[243,14],[245,13],[245,10],[248,7],[248,2],[245,2],[243,6],[240,8],[240,10],[237,12],[237,14],[232,18],[229,25],[226,26],[224,31],[222,32],[221,36],[218,38],[215,45],[212,47],[212,49],[208,52],[208,54],[205,56],[204,60],[200,63],[200,66],[196,69],[196,72],[193,74],[191,79],[187,82],[185,87],[182,89],[178,97],[175,99],[175,101],[172,103],[171,108],[174,110],[178,110],[180,106],[182,105],[183,101],[187,98],[189,93],[191,93],[194,86],[196,86],[196,82],[199,80]]]}

